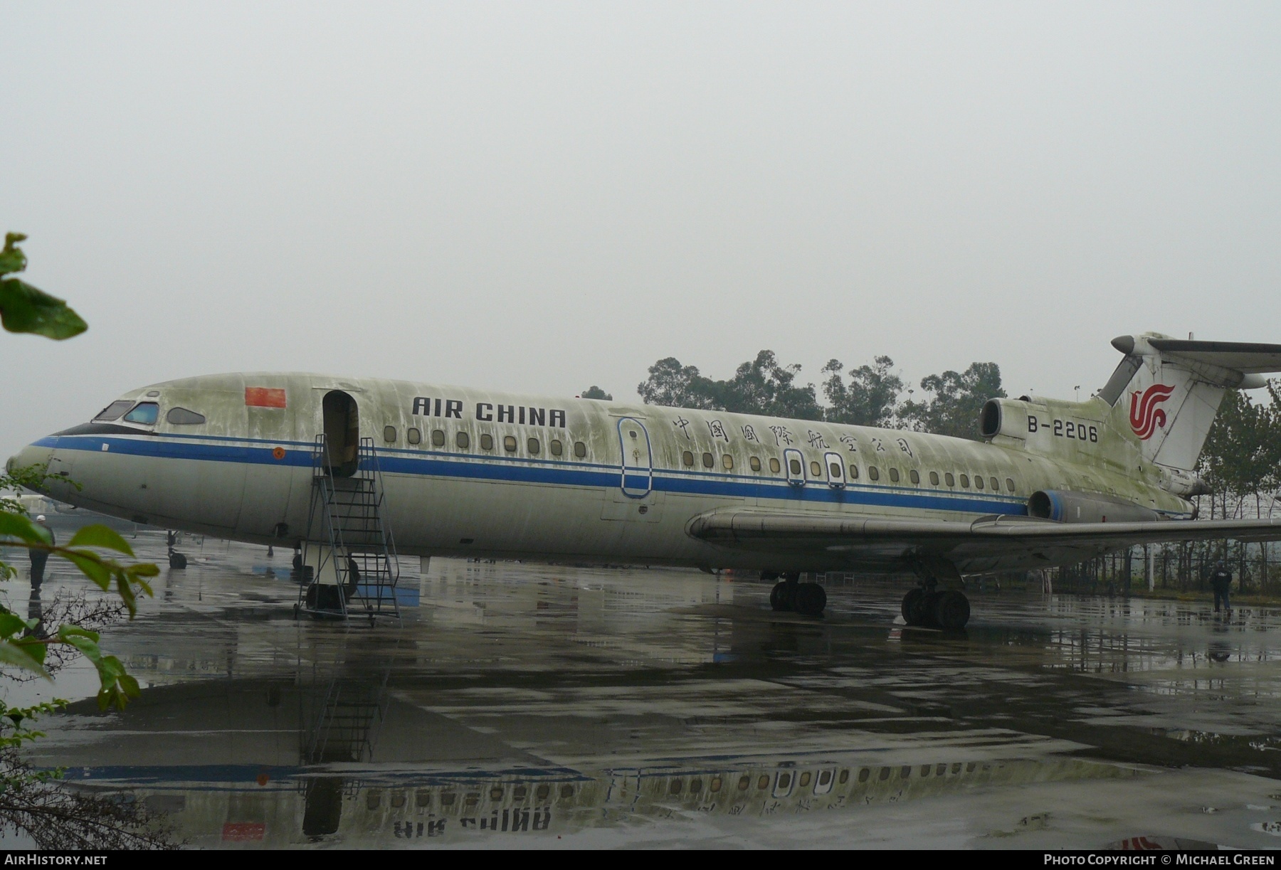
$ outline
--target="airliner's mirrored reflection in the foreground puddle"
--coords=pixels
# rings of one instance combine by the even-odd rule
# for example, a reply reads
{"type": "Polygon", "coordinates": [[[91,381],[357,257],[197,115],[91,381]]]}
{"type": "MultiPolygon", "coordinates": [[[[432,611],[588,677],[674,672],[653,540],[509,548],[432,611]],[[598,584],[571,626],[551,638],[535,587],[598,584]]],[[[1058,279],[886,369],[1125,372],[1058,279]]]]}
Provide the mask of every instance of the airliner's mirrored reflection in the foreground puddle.
{"type": "MultiPolygon", "coordinates": [[[[91,702],[83,711],[91,714],[91,702]]],[[[418,760],[424,746],[459,751],[457,729],[391,698],[386,684],[334,680],[311,689],[278,682],[149,689],[123,715],[126,730],[150,732],[150,766],[72,766],[83,787],[128,788],[168,815],[192,846],[314,841],[393,844],[437,839],[511,842],[690,814],[787,816],[938,797],[976,785],[1114,779],[1132,767],[1071,757],[993,759],[947,747],[922,755],[836,753],[739,762],[680,760],[602,770],[418,760]],[[206,732],[174,738],[175,724],[220,720],[234,710],[243,728],[296,716],[273,747],[234,746],[206,732]],[[448,747],[448,748],[443,748],[448,747]],[[224,750],[256,764],[220,764],[224,750]],[[196,759],[200,762],[192,764],[196,759]]],[[[109,755],[110,748],[106,750],[109,755]]],[[[228,761],[231,761],[228,759],[228,761]]],[[[514,843],[511,843],[514,844],[514,843]]]]}

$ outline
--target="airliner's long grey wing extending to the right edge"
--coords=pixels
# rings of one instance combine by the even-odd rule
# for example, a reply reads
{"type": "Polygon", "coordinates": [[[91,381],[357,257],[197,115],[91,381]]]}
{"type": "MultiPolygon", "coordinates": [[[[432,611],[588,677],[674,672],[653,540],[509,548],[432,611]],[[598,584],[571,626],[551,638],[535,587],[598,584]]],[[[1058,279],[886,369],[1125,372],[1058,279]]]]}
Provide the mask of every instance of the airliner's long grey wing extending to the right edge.
{"type": "Polygon", "coordinates": [[[1062,565],[1144,543],[1281,541],[1281,519],[1054,523],[1025,516],[984,516],[971,523],[893,518],[765,514],[747,509],[701,514],[690,536],[708,543],[779,554],[830,554],[893,559],[942,557],[962,573],[1062,565]]]}

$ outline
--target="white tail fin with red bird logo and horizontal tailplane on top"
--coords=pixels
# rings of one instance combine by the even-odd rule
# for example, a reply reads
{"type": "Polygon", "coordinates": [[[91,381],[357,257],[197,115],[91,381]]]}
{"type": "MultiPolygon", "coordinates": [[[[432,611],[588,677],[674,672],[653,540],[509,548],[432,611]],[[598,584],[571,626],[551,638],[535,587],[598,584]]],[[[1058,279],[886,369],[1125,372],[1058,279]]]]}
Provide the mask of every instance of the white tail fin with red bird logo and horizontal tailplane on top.
{"type": "Polygon", "coordinates": [[[1132,434],[1144,460],[1177,472],[1196,468],[1225,391],[1262,387],[1263,373],[1281,372],[1281,345],[1146,332],[1112,346],[1125,359],[1098,393],[1113,409],[1109,428],[1132,434]]]}

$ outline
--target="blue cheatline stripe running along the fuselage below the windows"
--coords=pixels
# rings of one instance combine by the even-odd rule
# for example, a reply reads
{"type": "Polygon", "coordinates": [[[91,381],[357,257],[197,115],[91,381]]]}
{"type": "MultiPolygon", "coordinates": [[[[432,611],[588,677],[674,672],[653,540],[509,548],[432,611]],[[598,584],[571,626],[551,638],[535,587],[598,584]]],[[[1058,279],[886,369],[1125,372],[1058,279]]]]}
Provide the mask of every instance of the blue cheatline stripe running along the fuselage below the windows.
{"type": "MultiPolygon", "coordinates": [[[[169,439],[168,436],[102,437],[61,436],[41,438],[37,447],[56,450],[83,450],[126,456],[154,456],[187,459],[206,463],[240,463],[243,465],[311,466],[311,443],[306,450],[286,450],[284,459],[275,459],[272,451],[286,443],[243,438],[237,443],[195,443],[169,439]],[[254,446],[250,446],[254,445],[254,446]],[[261,446],[259,446],[261,445],[261,446]]],[[[470,480],[509,483],[546,483],[552,486],[615,488],[620,483],[620,469],[612,465],[574,463],[564,460],[528,460],[510,456],[464,457],[446,452],[396,450],[379,454],[379,465],[386,474],[406,474],[470,480]]],[[[646,478],[628,475],[632,489],[644,489],[646,478]]],[[[653,470],[653,489],[698,496],[729,498],[763,498],[783,502],[867,505],[875,507],[912,507],[918,510],[951,510],[967,514],[1025,515],[1026,504],[1013,496],[979,496],[968,493],[921,491],[907,487],[867,486],[847,483],[844,488],[815,482],[802,487],[783,480],[753,478],[742,474],[689,473],[680,470],[653,470]]]]}

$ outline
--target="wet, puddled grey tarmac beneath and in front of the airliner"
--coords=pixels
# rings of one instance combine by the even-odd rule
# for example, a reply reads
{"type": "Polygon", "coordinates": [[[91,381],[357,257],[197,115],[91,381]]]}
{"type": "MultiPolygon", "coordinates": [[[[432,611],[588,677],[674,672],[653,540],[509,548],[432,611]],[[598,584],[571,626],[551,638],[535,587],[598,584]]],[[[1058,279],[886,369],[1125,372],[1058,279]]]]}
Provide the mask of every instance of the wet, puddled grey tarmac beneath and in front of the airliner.
{"type": "MultiPolygon", "coordinates": [[[[370,625],[296,619],[290,550],[181,550],[105,630],[128,710],[81,666],[10,697],[81,698],[36,760],[191,846],[1281,846],[1277,610],[975,592],[944,634],[888,583],[808,619],[746,578],[405,560],[370,625]]],[[[85,588],[50,568],[41,603],[85,588]]]]}

